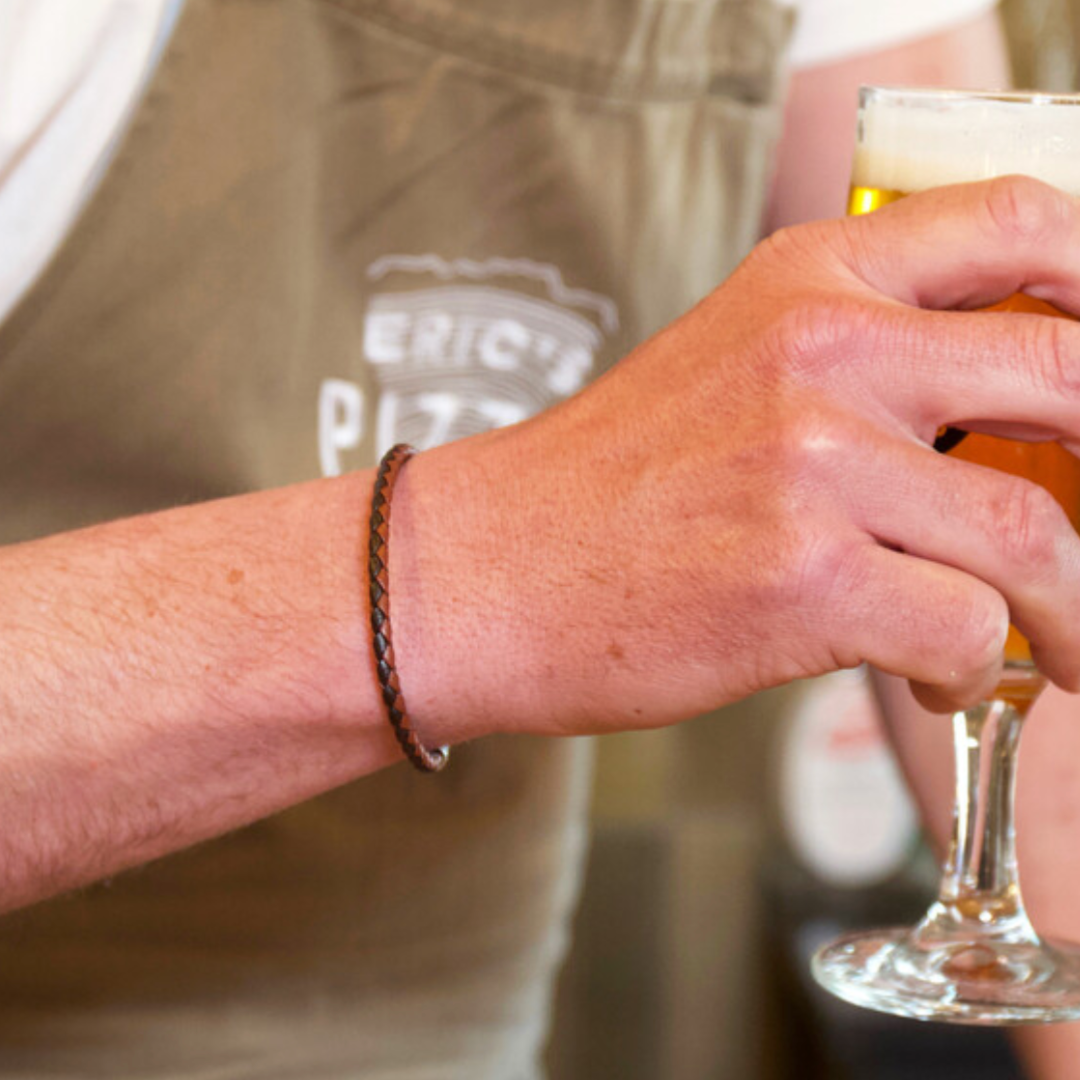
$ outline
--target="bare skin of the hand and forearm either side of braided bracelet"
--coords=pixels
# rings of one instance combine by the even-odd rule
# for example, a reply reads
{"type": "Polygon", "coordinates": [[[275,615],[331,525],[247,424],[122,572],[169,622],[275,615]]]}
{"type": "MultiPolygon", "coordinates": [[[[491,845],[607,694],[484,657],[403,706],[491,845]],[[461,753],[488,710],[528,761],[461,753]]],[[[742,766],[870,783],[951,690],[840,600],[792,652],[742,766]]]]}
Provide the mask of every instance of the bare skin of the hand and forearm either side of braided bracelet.
{"type": "MultiPolygon", "coordinates": [[[[414,459],[391,573],[421,734],[670,724],[861,661],[961,705],[1010,609],[1080,686],[1080,540],[929,448],[961,419],[1080,438],[1080,326],[932,310],[1021,286],[1080,310],[1078,237],[1070,200],[1013,180],[782,232],[579,397],[414,459]]],[[[370,481],[0,551],[4,906],[399,759],[370,481]]]]}

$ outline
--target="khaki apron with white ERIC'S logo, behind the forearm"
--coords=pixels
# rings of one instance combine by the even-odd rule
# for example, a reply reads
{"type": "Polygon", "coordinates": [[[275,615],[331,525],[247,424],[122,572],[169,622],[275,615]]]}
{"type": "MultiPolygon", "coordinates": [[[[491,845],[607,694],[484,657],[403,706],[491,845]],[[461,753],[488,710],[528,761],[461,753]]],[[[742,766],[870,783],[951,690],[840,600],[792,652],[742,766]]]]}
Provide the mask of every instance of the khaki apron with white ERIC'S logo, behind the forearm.
{"type": "MultiPolygon", "coordinates": [[[[0,326],[0,538],[573,393],[753,242],[786,31],[769,0],[188,0],[0,326]]],[[[5,918],[0,1076],[536,1076],[588,781],[583,741],[490,739],[5,918]]]]}

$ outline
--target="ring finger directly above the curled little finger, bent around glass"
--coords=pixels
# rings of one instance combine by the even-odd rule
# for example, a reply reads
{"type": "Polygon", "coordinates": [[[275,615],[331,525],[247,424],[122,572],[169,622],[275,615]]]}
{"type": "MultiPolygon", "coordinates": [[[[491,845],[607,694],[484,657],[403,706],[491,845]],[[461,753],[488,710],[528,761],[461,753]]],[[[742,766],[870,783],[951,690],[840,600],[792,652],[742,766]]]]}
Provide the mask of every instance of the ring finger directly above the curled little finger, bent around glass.
{"type": "MultiPolygon", "coordinates": [[[[1080,478],[1063,450],[1017,449],[1036,462],[1056,450],[1071,480],[1062,494],[1080,496],[1080,478]]],[[[990,585],[1030,639],[1043,673],[1080,688],[1080,538],[1045,488],[885,440],[864,445],[854,463],[846,463],[845,476],[843,498],[856,524],[882,543],[990,585]]]]}

